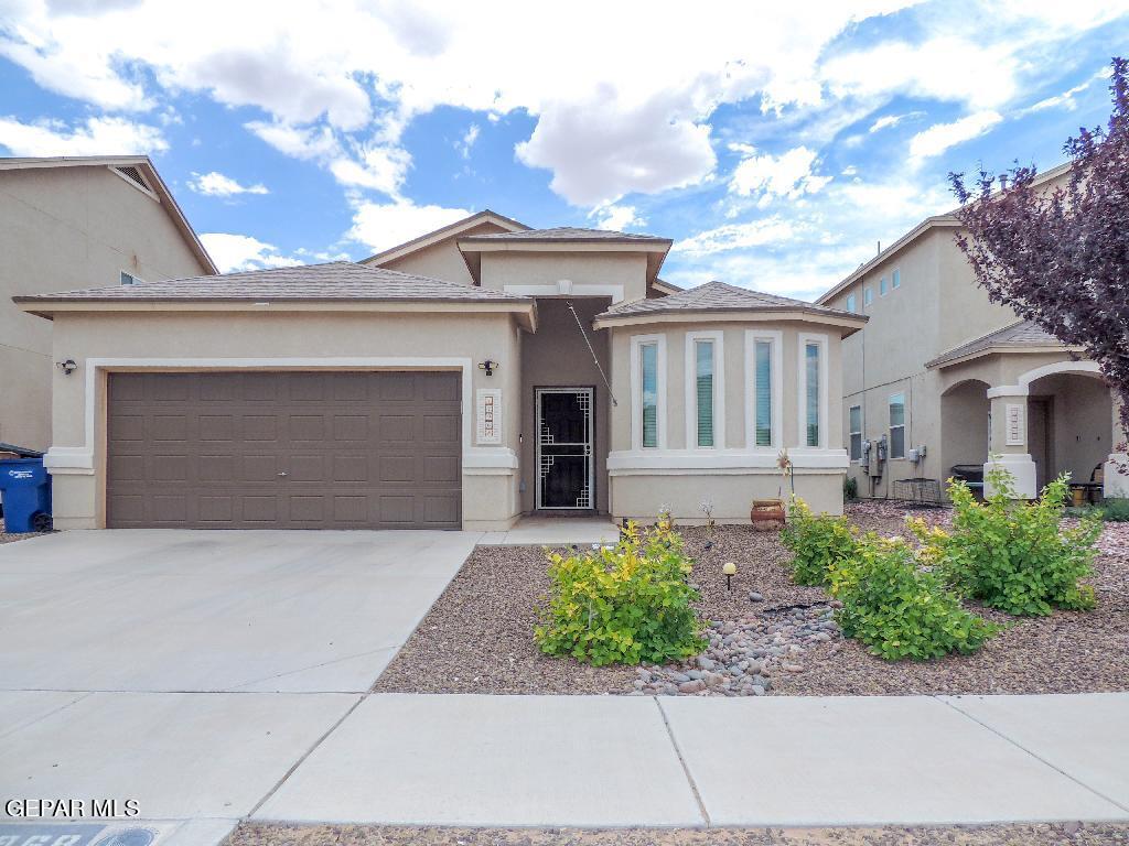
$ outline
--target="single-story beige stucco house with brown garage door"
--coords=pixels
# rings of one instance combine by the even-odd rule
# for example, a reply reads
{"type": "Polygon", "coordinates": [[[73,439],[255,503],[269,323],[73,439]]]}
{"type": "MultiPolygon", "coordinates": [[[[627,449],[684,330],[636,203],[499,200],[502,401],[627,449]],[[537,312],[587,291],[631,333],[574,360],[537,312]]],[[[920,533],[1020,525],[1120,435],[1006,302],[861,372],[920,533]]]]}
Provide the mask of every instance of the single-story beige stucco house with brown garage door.
{"type": "Polygon", "coordinates": [[[671,241],[481,212],[361,263],[23,296],[53,321],[60,528],[476,528],[842,510],[842,338],[671,241]]]}

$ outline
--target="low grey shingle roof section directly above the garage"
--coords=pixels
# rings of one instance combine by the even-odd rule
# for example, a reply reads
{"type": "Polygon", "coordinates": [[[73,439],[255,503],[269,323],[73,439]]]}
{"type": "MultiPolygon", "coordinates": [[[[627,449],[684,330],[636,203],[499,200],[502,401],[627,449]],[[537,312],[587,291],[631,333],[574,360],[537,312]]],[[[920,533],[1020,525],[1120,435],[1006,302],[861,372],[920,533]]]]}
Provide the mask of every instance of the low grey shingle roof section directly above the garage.
{"type": "Polygon", "coordinates": [[[225,273],[219,276],[193,276],[133,285],[88,288],[26,297],[16,302],[120,302],[130,300],[193,301],[294,301],[353,300],[379,302],[532,302],[530,298],[414,276],[384,267],[353,262],[330,262],[298,267],[225,273]]]}

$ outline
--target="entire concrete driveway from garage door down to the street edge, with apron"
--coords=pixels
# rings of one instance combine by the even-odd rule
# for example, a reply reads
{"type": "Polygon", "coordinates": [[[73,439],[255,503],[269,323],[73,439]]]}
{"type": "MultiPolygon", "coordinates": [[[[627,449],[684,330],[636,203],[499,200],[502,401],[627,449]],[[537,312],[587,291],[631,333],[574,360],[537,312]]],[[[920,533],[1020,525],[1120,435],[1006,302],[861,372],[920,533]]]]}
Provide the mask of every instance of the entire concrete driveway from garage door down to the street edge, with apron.
{"type": "Polygon", "coordinates": [[[0,795],[133,799],[161,846],[217,843],[361,702],[479,537],[0,545],[0,795]]]}

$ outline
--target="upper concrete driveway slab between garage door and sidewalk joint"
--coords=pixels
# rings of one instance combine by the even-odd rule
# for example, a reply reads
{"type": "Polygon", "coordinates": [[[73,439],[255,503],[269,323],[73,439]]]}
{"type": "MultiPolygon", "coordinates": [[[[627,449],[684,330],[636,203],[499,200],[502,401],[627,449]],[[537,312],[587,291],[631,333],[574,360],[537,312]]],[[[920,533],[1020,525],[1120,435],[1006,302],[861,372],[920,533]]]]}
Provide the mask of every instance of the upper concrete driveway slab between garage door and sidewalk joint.
{"type": "Polygon", "coordinates": [[[0,689],[361,693],[474,532],[69,531],[0,546],[0,689]]]}

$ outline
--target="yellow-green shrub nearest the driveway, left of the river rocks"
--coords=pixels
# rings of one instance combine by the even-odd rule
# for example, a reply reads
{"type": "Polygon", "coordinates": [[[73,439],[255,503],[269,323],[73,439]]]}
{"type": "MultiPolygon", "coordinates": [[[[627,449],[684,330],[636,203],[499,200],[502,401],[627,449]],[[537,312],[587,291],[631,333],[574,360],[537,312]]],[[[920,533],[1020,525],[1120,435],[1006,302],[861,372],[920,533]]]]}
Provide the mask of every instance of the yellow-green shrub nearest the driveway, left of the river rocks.
{"type": "Polygon", "coordinates": [[[550,593],[534,638],[542,652],[596,667],[665,663],[708,645],[691,602],[691,561],[669,520],[640,531],[629,523],[614,547],[548,552],[550,593]]]}

